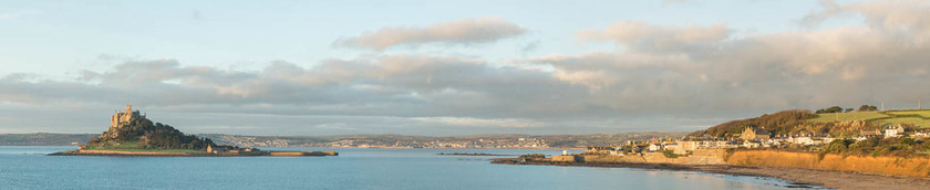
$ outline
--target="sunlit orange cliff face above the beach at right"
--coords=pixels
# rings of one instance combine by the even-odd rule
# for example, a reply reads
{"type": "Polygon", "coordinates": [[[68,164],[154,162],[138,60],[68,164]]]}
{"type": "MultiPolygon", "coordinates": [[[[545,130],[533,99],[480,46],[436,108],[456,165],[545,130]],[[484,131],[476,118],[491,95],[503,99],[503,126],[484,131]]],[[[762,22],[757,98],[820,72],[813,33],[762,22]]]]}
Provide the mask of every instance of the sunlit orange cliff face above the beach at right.
{"type": "Polygon", "coordinates": [[[857,171],[893,176],[930,177],[930,159],[902,157],[858,157],[774,150],[735,151],[726,159],[731,165],[773,166],[857,171]]]}

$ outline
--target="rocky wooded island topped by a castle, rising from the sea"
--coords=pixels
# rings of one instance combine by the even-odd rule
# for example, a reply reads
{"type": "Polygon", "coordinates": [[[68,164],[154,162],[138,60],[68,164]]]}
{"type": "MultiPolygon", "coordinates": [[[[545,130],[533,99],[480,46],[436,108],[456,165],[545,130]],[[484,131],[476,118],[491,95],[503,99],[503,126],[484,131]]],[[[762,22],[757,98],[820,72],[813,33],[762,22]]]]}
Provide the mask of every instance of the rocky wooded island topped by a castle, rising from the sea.
{"type": "Polygon", "coordinates": [[[153,123],[127,105],[110,118],[110,129],[76,150],[50,156],[113,157],[246,157],[246,156],[339,156],[335,151],[266,151],[258,148],[216,145],[209,138],[185,135],[162,123],[153,123]]]}

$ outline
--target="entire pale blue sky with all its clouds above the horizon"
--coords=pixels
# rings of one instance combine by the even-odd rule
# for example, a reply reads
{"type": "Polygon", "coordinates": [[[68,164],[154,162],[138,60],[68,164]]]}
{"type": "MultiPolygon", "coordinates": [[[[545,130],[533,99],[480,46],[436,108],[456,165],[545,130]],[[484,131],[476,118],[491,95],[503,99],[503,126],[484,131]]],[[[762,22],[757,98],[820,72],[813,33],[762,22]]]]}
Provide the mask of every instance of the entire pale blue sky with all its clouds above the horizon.
{"type": "Polygon", "coordinates": [[[0,133],[691,131],[930,99],[930,1],[0,0],[0,133]]]}

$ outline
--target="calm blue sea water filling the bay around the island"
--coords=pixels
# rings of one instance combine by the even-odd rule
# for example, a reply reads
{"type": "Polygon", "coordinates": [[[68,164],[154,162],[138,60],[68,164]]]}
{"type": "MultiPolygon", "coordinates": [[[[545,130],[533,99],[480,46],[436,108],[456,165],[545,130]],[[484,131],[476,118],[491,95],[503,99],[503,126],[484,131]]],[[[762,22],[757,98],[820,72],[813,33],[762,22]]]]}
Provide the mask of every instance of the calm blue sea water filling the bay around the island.
{"type": "MultiPolygon", "coordinates": [[[[335,149],[338,157],[53,157],[75,147],[0,147],[0,189],[779,189],[785,181],[691,171],[512,166],[438,152],[335,149]]],[[[306,148],[302,150],[313,150],[306,148]]]]}

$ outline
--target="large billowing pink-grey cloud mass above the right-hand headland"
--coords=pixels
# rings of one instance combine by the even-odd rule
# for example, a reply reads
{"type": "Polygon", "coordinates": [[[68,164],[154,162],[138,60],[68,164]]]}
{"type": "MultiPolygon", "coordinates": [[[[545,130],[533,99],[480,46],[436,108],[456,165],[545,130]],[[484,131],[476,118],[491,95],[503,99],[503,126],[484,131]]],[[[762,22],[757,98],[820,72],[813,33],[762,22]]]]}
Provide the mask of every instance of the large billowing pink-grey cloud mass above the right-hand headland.
{"type": "Polygon", "coordinates": [[[554,78],[587,87],[588,98],[616,110],[771,110],[912,101],[930,95],[913,88],[930,81],[930,54],[924,53],[930,52],[924,43],[930,17],[916,11],[930,10],[926,4],[843,4],[837,9],[866,15],[866,24],[740,38],[722,24],[621,21],[577,33],[580,41],[614,42],[616,51],[515,62],[550,66],[554,78]]]}

